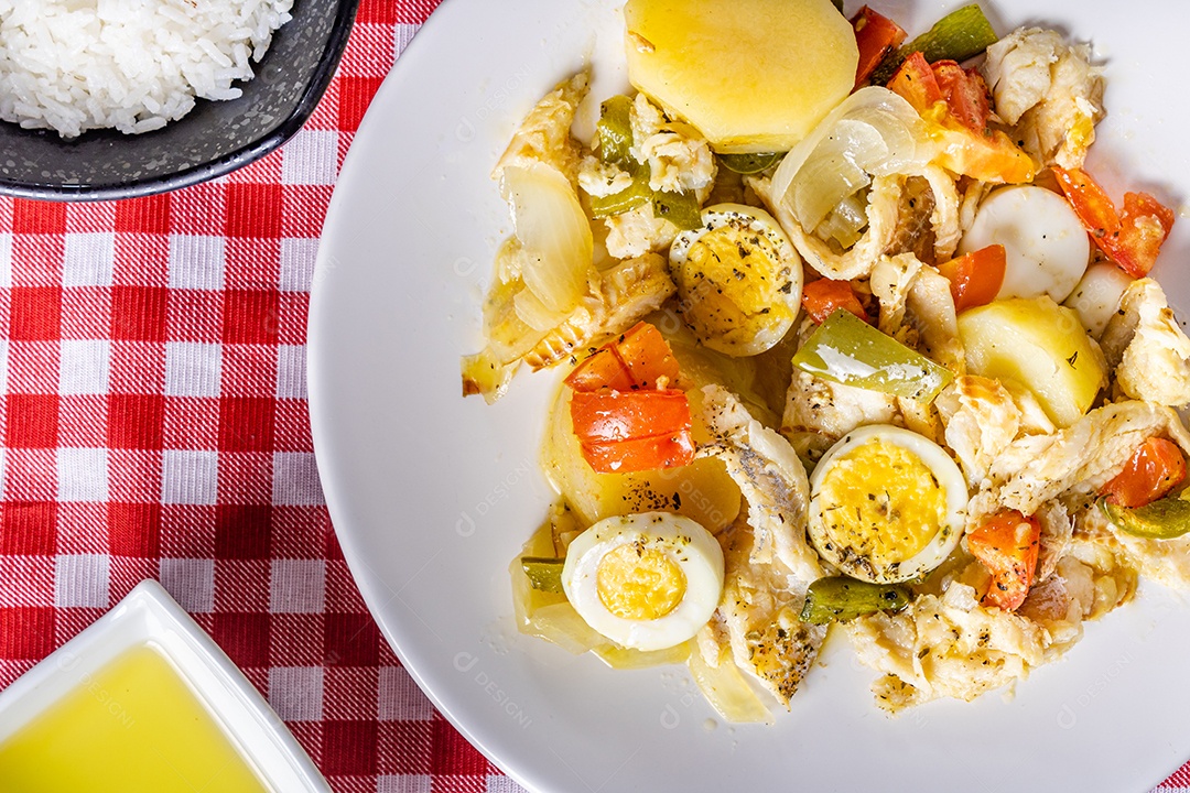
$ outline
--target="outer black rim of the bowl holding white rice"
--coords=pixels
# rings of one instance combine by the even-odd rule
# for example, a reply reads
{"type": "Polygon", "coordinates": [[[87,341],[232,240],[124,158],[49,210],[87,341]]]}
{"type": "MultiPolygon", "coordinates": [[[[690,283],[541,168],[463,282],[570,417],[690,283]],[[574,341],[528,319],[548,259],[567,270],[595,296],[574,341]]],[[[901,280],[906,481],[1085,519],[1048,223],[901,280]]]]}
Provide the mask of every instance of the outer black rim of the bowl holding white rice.
{"type": "MultiPolygon", "coordinates": [[[[292,138],[322,99],[347,45],[361,0],[339,0],[326,49],[293,112],[268,134],[200,165],[123,184],[30,184],[0,177],[0,195],[37,201],[112,201],[157,195],[224,176],[256,162],[292,138]]],[[[184,119],[183,119],[184,120],[184,119]]]]}

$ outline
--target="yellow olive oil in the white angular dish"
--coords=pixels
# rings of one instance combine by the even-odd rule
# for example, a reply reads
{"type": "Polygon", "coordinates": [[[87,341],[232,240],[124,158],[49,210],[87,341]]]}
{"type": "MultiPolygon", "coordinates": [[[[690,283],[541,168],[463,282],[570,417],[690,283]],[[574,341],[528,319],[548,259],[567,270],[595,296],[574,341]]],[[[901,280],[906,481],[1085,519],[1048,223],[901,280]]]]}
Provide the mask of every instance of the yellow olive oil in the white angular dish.
{"type": "Polygon", "coordinates": [[[136,647],[0,743],[4,793],[268,793],[155,647],[136,647]]]}

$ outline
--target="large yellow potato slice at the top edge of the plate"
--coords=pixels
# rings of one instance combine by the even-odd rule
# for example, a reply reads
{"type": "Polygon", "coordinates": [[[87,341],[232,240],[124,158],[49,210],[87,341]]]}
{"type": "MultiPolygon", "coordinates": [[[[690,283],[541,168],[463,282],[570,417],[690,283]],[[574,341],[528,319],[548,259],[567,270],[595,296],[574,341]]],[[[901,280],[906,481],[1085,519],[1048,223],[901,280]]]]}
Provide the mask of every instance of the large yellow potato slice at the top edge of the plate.
{"type": "Polygon", "coordinates": [[[624,18],[632,84],[719,152],[788,151],[856,82],[831,0],[628,0],[624,18]]]}

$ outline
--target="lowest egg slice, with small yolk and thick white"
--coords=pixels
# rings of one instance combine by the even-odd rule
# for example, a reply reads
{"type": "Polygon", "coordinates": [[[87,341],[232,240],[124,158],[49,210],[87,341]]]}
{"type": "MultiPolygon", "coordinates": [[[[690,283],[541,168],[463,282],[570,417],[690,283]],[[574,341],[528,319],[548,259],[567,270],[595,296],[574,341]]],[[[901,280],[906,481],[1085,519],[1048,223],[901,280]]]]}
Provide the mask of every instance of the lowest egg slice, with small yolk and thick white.
{"type": "Polygon", "coordinates": [[[719,606],[724,553],[688,517],[609,517],[570,543],[562,589],[587,624],[616,644],[665,649],[699,632],[719,606]]]}

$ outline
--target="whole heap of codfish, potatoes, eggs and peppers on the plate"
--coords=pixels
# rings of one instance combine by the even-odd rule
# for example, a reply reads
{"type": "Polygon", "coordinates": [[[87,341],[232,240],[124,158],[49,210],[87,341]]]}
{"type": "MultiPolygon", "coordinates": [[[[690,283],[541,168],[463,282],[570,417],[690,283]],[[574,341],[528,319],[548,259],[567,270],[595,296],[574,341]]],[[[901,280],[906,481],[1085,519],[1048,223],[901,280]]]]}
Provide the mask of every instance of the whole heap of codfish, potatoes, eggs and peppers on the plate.
{"type": "Polygon", "coordinates": [[[828,634],[896,713],[1190,589],[1175,213],[1086,170],[1090,48],[973,5],[915,36],[831,0],[624,20],[632,89],[565,77],[495,164],[514,233],[462,360],[488,402],[560,380],[521,631],[771,722],[828,634]]]}

